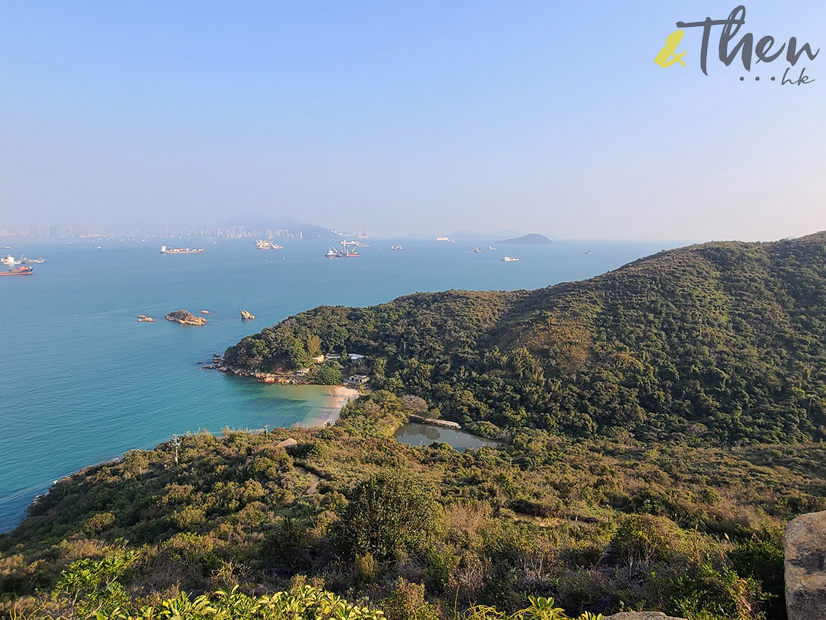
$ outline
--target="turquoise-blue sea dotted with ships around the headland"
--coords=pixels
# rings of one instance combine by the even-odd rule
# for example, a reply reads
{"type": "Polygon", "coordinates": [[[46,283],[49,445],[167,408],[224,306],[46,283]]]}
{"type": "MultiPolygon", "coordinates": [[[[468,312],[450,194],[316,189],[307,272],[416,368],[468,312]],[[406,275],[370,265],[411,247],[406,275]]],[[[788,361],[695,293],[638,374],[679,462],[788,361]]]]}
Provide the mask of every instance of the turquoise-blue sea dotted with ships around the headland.
{"type": "MultiPolygon", "coordinates": [[[[368,306],[447,289],[538,289],[586,279],[667,241],[370,239],[358,258],[325,258],[325,241],[0,239],[0,255],[43,257],[0,278],[0,532],[55,480],[173,434],[312,424],[330,405],[321,386],[258,384],[202,370],[215,353],[322,304],[368,306]],[[162,255],[167,246],[202,254],[162,255]],[[401,244],[403,250],[390,247],[401,244]],[[503,262],[503,255],[518,261],[503,262]],[[184,308],[203,327],[164,321],[184,308]],[[201,314],[207,310],[209,314],[201,314]],[[254,320],[243,321],[241,310],[254,320]],[[157,317],[138,322],[138,315],[157,317]]],[[[0,265],[0,269],[10,269],[0,265]]],[[[358,352],[358,351],[353,351],[358,352]]]]}

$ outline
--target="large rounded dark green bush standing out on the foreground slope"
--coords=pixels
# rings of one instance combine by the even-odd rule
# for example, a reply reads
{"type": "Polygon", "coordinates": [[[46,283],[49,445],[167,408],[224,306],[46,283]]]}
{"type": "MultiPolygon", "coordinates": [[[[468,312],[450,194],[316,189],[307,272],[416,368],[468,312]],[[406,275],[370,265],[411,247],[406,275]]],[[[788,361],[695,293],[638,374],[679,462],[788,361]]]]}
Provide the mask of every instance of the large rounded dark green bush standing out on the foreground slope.
{"type": "Polygon", "coordinates": [[[340,512],[336,544],[346,556],[386,561],[424,551],[439,528],[439,504],[430,489],[401,470],[359,483],[340,512]]]}

